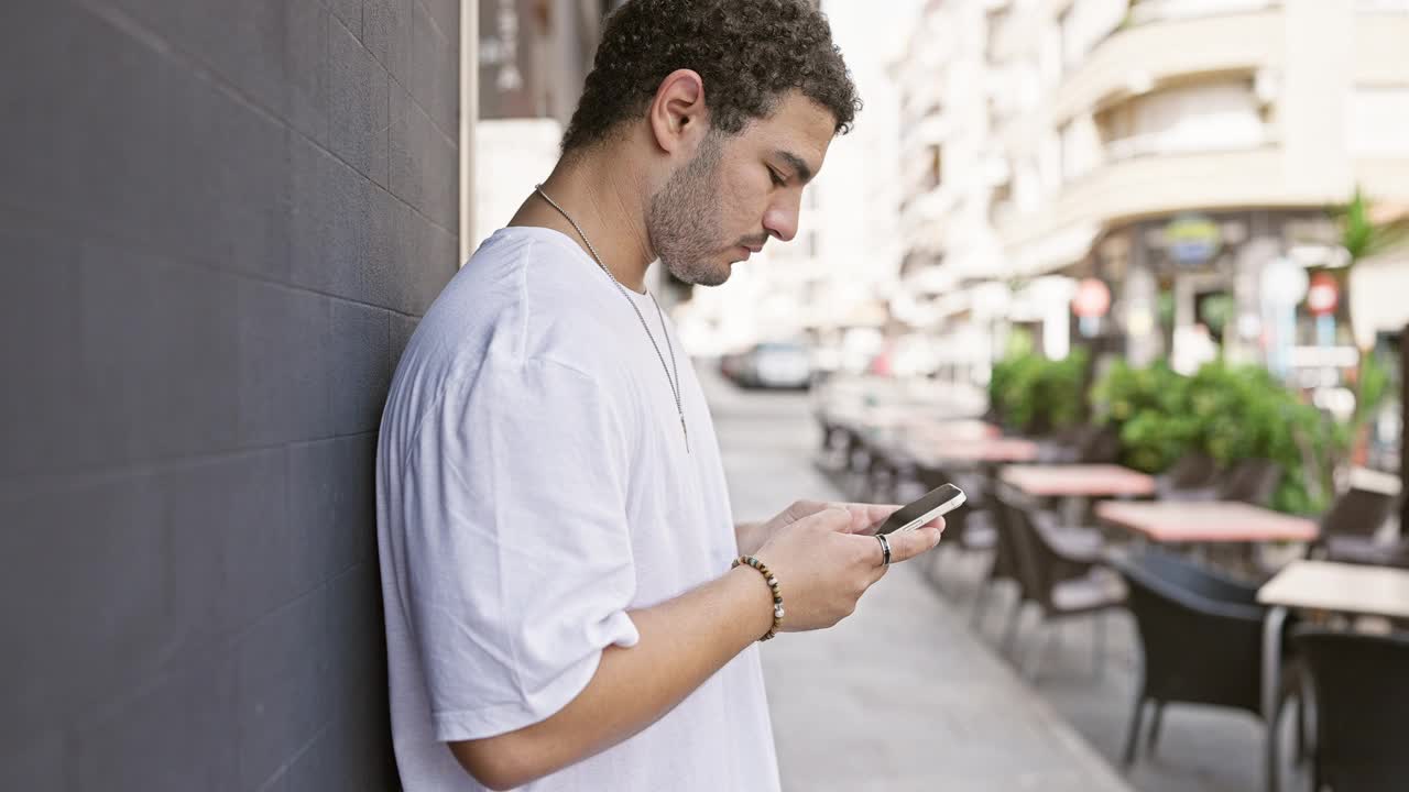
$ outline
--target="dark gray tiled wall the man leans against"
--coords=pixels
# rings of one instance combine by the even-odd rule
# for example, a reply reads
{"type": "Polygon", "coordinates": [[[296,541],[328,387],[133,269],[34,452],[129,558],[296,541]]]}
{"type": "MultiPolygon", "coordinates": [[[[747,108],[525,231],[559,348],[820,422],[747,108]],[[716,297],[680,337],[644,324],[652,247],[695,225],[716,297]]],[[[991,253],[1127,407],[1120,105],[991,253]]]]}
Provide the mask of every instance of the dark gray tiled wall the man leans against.
{"type": "Polygon", "coordinates": [[[395,786],[372,465],[458,3],[0,7],[0,789],[395,786]]]}

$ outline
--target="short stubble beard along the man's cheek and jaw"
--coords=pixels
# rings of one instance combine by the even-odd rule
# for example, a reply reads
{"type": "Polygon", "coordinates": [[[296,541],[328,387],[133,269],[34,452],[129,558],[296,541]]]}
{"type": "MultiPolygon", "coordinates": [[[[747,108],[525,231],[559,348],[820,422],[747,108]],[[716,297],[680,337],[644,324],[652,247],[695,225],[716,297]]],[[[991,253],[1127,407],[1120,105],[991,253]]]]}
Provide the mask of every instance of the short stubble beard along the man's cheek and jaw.
{"type": "Polygon", "coordinates": [[[723,207],[719,163],[723,141],[710,132],[699,154],[654,196],[645,233],[671,275],[686,283],[719,286],[728,280],[728,262],[719,256],[723,207]]]}

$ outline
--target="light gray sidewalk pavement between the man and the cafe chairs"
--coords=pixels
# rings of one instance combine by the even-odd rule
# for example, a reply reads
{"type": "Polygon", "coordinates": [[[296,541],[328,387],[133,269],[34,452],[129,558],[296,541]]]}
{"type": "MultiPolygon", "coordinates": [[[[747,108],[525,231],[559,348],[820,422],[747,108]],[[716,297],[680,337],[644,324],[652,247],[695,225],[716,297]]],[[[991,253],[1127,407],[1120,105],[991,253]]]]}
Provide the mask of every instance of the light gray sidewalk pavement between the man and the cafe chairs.
{"type": "MultiPolygon", "coordinates": [[[[744,393],[700,371],[734,514],[766,519],[800,497],[840,495],[812,466],[800,395],[744,393]]],[[[788,792],[1127,791],[1105,760],[924,582],[893,568],[831,630],[764,650],[788,792]]]]}

